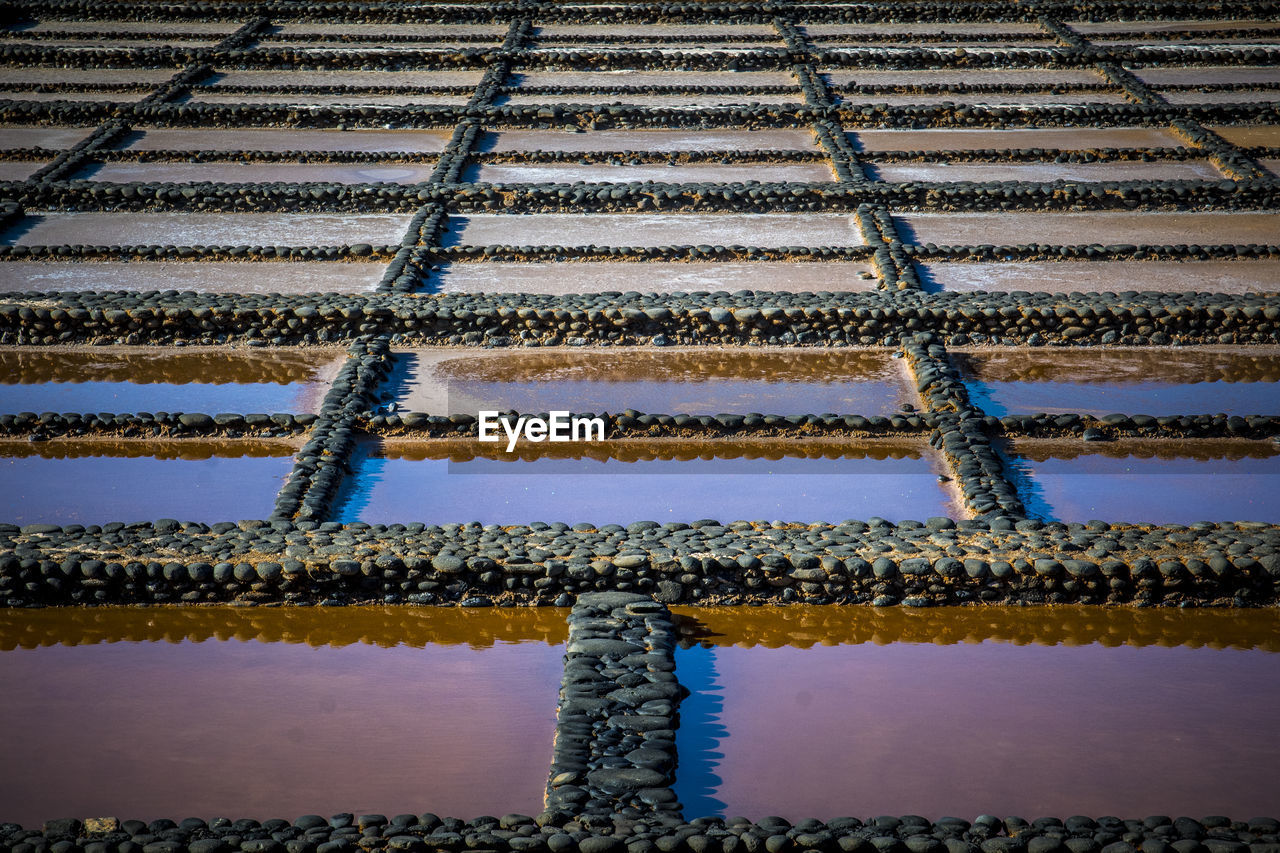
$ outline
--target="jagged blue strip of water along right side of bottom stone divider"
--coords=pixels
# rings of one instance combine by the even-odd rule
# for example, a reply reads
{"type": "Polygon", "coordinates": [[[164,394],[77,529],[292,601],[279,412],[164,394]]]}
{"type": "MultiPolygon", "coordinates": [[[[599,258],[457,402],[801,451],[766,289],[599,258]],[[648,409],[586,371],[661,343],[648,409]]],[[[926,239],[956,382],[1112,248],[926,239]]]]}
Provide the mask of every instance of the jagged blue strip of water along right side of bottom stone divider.
{"type": "Polygon", "coordinates": [[[716,669],[716,648],[678,649],[676,672],[690,690],[680,703],[680,727],[676,730],[676,797],[685,815],[724,815],[724,802],[716,797],[723,784],[716,768],[724,757],[719,745],[728,736],[728,729],[721,724],[724,695],[716,669]]]}

